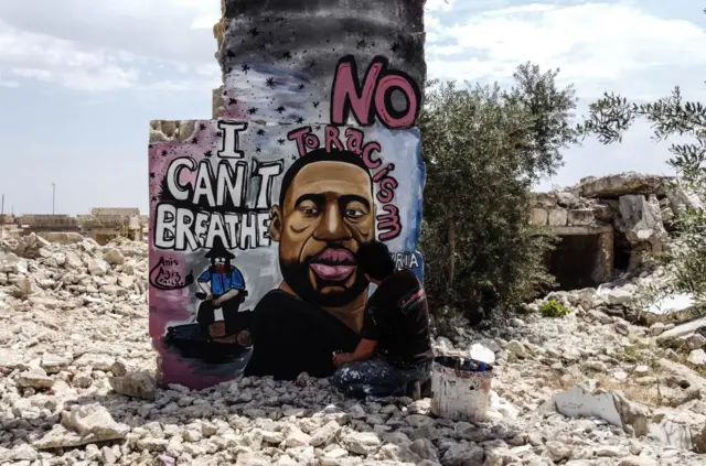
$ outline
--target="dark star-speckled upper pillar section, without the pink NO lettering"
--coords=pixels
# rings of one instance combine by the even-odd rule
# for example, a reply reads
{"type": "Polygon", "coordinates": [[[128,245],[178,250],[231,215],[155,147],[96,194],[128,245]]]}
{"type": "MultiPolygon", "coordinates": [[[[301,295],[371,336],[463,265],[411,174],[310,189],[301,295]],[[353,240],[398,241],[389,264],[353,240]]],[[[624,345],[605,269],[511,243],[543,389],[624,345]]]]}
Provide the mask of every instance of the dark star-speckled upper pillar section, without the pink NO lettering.
{"type": "MultiPolygon", "coordinates": [[[[425,2],[224,0],[214,33],[225,95],[214,117],[329,122],[333,72],[347,55],[359,75],[384,56],[424,89],[425,2]]],[[[396,107],[402,98],[393,96],[396,107]]]]}

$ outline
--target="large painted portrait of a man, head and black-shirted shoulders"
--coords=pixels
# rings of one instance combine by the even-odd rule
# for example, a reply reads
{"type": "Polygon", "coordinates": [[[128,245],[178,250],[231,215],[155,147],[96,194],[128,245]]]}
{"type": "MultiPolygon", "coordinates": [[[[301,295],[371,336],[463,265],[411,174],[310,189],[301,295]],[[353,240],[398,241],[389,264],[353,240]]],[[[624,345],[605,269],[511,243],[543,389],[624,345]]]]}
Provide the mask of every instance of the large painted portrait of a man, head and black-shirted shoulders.
{"type": "Polygon", "coordinates": [[[269,234],[282,281],[254,310],[245,373],[327,377],[332,353],[355,348],[367,300],[356,251],[375,239],[375,205],[361,156],[319,149],[298,159],[282,178],[269,234]]]}

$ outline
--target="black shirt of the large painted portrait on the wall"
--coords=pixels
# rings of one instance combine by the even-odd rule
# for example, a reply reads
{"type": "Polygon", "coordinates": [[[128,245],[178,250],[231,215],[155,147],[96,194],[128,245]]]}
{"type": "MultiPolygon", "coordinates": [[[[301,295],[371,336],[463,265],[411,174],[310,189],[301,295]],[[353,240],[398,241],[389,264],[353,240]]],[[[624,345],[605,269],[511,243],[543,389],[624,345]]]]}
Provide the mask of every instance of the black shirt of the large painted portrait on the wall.
{"type": "Polygon", "coordinates": [[[301,372],[329,377],[333,351],[353,351],[360,342],[324,310],[280,290],[267,293],[255,307],[253,356],[245,376],[293,380],[301,372]]]}

